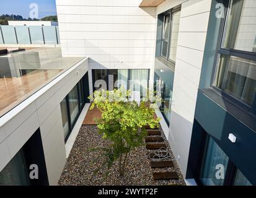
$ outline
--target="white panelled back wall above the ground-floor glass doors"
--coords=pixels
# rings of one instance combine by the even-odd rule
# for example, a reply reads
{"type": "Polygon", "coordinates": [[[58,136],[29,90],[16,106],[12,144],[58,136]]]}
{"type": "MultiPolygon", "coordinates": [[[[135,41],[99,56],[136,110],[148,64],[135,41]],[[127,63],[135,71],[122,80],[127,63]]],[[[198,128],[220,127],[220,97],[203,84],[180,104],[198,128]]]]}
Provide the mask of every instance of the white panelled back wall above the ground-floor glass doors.
{"type": "Polygon", "coordinates": [[[90,69],[152,69],[156,9],[140,2],[56,0],[64,55],[88,55],[90,69]]]}

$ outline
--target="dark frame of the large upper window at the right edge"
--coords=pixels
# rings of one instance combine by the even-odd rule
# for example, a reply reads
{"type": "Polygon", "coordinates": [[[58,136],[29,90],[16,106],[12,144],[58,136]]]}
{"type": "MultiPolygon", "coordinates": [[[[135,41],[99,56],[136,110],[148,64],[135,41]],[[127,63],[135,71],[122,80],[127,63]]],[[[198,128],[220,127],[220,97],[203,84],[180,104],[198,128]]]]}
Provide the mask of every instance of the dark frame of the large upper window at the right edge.
{"type": "Polygon", "coordinates": [[[244,58],[244,59],[256,61],[256,53],[254,52],[224,48],[224,38],[227,34],[227,25],[229,22],[229,13],[230,13],[229,11],[231,10],[231,2],[232,2],[231,0],[226,0],[224,3],[225,12],[224,12],[224,18],[222,19],[222,22],[221,22],[221,27],[219,29],[219,40],[218,40],[218,47],[215,55],[214,71],[211,79],[211,88],[213,88],[214,92],[218,93],[219,95],[224,97],[226,100],[230,101],[231,103],[241,108],[245,112],[252,114],[252,116],[256,116],[256,93],[254,95],[252,105],[250,106],[244,101],[239,100],[239,98],[236,98],[230,93],[227,93],[224,90],[221,90],[221,88],[216,87],[216,78],[218,75],[217,73],[218,73],[219,60],[221,58],[221,55],[226,55],[229,57],[235,56],[238,58],[244,58]]]}

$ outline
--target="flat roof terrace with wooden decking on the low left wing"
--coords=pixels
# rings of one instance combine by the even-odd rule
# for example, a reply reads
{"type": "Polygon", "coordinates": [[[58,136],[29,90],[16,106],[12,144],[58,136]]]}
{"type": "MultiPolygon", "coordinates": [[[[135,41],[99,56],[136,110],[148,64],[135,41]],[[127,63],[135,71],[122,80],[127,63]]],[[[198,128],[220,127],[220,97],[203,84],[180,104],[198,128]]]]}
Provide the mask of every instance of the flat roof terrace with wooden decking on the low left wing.
{"type": "Polygon", "coordinates": [[[83,58],[55,47],[0,56],[0,118],[83,58]]]}

